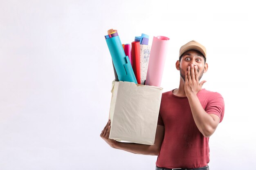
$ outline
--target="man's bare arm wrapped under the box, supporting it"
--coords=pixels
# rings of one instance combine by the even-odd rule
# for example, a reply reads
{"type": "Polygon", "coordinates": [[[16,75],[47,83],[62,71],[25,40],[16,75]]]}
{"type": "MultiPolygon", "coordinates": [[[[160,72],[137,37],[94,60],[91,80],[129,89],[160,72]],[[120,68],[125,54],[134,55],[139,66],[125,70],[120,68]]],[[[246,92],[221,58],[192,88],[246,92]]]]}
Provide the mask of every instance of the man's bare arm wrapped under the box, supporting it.
{"type": "Polygon", "coordinates": [[[109,132],[110,132],[110,121],[108,121],[107,125],[102,130],[100,136],[112,148],[121,149],[127,152],[132,152],[135,154],[142,154],[142,155],[158,155],[160,147],[162,145],[162,141],[164,139],[164,126],[160,126],[160,125],[157,125],[154,145],[118,142],[113,139],[109,139],[109,132]]]}

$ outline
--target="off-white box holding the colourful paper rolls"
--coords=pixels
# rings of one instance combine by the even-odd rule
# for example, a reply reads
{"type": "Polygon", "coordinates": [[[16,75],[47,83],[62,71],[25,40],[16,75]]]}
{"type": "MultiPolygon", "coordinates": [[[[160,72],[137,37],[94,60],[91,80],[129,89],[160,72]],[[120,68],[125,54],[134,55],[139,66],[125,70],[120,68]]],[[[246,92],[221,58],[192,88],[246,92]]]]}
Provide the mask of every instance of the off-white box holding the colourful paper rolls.
{"type": "Polygon", "coordinates": [[[163,88],[112,82],[110,139],[153,145],[163,88]]]}

